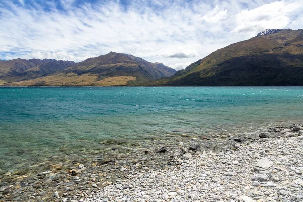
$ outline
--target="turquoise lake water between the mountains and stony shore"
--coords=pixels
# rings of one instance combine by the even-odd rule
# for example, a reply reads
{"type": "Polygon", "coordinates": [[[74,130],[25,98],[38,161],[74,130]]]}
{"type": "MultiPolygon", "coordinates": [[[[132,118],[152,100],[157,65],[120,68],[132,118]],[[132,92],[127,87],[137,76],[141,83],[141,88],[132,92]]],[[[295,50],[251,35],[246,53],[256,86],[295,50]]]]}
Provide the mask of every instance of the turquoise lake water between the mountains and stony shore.
{"type": "Polygon", "coordinates": [[[303,87],[0,87],[0,169],[106,139],[301,122],[302,99],[303,87]]]}

